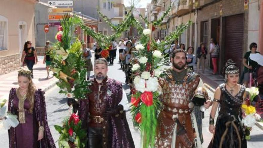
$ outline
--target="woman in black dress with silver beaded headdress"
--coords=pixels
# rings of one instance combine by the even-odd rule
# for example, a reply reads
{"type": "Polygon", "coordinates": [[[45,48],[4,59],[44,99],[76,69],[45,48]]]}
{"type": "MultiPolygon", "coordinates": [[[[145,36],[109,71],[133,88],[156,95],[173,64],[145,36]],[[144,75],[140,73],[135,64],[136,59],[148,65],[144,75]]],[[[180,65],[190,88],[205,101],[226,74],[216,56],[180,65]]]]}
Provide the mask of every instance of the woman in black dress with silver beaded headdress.
{"type": "Polygon", "coordinates": [[[215,90],[214,102],[210,113],[209,131],[214,134],[212,148],[247,148],[244,129],[241,125],[241,105],[246,98],[245,86],[238,84],[239,69],[229,59],[224,67],[225,83],[215,90]],[[215,113],[220,104],[220,111],[214,126],[215,113]]]}

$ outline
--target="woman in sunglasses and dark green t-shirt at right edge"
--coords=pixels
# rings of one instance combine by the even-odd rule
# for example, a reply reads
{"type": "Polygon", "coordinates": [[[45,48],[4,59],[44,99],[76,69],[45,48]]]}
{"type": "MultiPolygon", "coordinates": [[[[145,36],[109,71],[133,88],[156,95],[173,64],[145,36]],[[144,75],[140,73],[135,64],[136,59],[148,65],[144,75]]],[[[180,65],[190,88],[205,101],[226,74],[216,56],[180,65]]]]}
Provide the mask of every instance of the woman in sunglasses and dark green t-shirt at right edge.
{"type": "Polygon", "coordinates": [[[250,51],[248,51],[243,58],[244,72],[243,72],[243,83],[246,85],[249,82],[249,72],[255,70],[258,63],[249,58],[250,54],[259,53],[257,50],[258,45],[256,43],[251,43],[249,45],[250,51]]]}

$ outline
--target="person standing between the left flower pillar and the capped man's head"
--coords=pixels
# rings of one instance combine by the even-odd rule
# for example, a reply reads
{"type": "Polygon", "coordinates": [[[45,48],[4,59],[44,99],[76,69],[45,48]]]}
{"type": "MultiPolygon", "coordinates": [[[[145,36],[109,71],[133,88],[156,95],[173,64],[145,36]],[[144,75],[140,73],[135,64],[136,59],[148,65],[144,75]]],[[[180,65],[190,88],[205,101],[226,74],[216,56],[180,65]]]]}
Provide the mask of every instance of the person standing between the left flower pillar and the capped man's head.
{"type": "Polygon", "coordinates": [[[83,59],[85,60],[85,65],[86,65],[86,69],[87,69],[86,80],[89,80],[90,73],[93,69],[92,62],[91,62],[92,54],[91,54],[91,50],[89,48],[87,48],[86,43],[82,44],[82,51],[83,51],[83,59]]]}

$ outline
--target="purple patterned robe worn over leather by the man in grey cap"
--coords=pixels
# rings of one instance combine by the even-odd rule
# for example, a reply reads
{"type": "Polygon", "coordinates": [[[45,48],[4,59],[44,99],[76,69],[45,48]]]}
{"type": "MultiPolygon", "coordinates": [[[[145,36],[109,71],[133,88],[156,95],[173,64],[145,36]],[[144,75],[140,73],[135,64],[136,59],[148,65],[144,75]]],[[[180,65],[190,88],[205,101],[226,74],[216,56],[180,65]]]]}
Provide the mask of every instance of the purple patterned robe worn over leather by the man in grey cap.
{"type": "MultiPolygon", "coordinates": [[[[111,91],[111,95],[107,95],[106,93],[106,100],[107,100],[107,106],[109,108],[117,108],[119,105],[123,91],[122,91],[122,84],[119,81],[116,81],[114,79],[110,79],[106,77],[106,85],[107,90],[111,91]]],[[[97,83],[96,80],[92,80],[93,85],[94,83],[97,83]]],[[[91,92],[92,93],[92,92],[91,92]]],[[[87,129],[88,127],[88,107],[89,107],[89,100],[87,99],[81,99],[79,102],[79,111],[78,115],[79,118],[82,120],[82,128],[87,129]]],[[[132,134],[129,129],[128,122],[126,120],[126,114],[125,111],[122,115],[118,117],[111,117],[108,120],[108,147],[109,148],[135,148],[134,142],[132,139],[132,134]]]]}

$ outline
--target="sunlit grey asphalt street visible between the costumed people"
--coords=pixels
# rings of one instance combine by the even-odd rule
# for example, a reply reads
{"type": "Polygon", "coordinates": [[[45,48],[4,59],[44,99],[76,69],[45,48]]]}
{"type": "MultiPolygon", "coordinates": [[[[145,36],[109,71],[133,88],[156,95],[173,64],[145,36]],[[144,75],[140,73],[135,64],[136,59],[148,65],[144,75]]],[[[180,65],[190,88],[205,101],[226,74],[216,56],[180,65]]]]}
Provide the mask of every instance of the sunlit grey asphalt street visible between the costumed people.
{"type": "MultiPolygon", "coordinates": [[[[125,74],[120,69],[120,64],[118,63],[118,56],[114,61],[114,65],[110,65],[108,71],[108,77],[114,78],[123,83],[123,88],[126,90],[126,95],[129,97],[129,86],[127,86],[125,82],[125,74]],[[117,59],[117,60],[116,60],[117,59]]],[[[94,60],[92,60],[94,61],[94,60]]],[[[93,72],[91,73],[91,76],[93,72]]],[[[62,121],[69,115],[68,106],[67,106],[67,98],[63,94],[58,94],[59,88],[54,86],[50,90],[48,90],[45,94],[46,106],[47,106],[47,115],[48,115],[48,124],[51,129],[51,133],[54,141],[57,145],[57,140],[59,138],[58,132],[54,129],[54,125],[61,125],[62,121]]],[[[213,93],[208,91],[210,97],[213,97],[213,93]]],[[[210,108],[211,109],[211,108],[210,108]]],[[[212,139],[212,134],[208,131],[209,126],[209,114],[210,109],[205,112],[205,118],[203,119],[203,136],[204,143],[203,147],[206,148],[212,139]]],[[[137,132],[133,128],[132,118],[130,112],[126,113],[127,120],[129,123],[130,130],[132,132],[132,137],[135,143],[136,148],[140,148],[140,132],[137,132]]],[[[263,145],[263,132],[257,126],[254,126],[251,131],[251,140],[247,142],[248,148],[259,148],[263,145]]],[[[0,147],[7,148],[8,147],[8,134],[7,130],[3,128],[0,129],[0,147]]]]}

